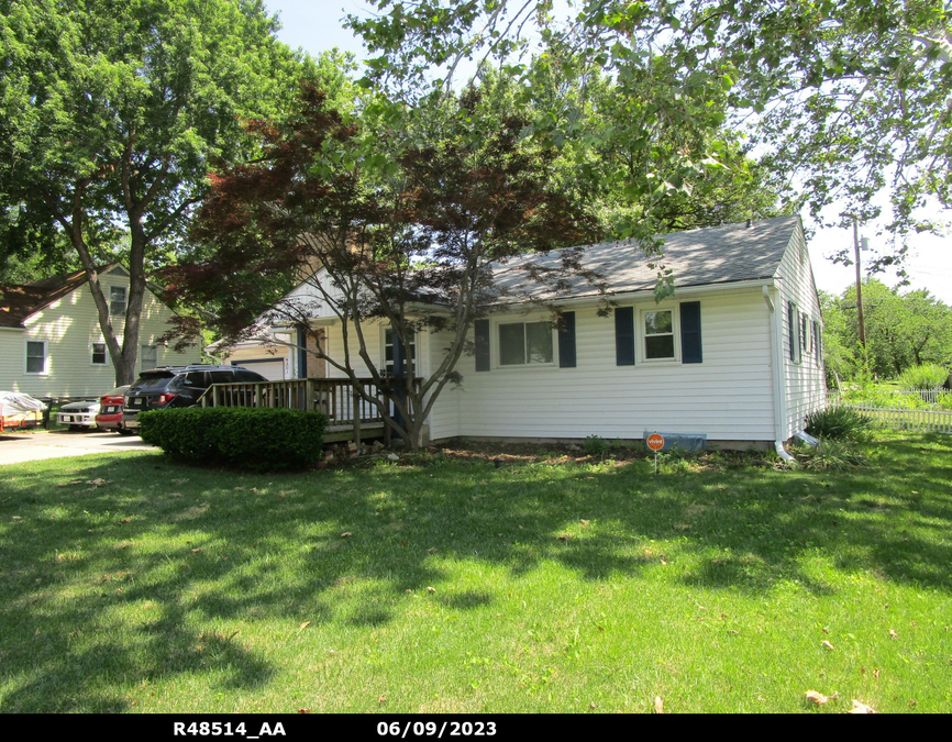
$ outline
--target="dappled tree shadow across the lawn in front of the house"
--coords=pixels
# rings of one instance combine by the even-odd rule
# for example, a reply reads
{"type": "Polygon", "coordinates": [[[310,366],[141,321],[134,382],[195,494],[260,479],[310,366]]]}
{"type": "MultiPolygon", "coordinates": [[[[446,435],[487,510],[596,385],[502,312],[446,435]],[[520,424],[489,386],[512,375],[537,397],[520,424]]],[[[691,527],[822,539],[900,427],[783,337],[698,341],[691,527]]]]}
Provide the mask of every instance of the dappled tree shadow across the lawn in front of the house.
{"type": "Polygon", "coordinates": [[[218,623],[275,622],[281,642],[303,621],[384,627],[430,586],[444,610],[491,607],[491,589],[451,591],[460,562],[600,580],[682,560],[696,565],[678,578],[691,586],[759,594],[796,580],[822,595],[833,588],[804,566],[820,554],[952,590],[947,447],[897,439],[877,468],[853,473],[449,463],[245,475],[157,454],[18,469],[0,495],[2,710],[120,711],[131,701],[117,683],[177,674],[255,688],[276,668],[218,623]],[[109,484],[62,486],[95,479],[109,484]]]}

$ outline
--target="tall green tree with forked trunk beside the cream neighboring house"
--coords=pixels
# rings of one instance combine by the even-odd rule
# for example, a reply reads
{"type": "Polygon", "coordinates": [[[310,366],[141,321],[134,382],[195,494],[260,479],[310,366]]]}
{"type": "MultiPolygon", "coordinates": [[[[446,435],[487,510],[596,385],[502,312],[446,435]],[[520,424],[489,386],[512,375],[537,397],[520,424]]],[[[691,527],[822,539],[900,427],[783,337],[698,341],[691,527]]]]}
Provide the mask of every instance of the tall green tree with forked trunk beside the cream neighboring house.
{"type": "Polygon", "coordinates": [[[259,0],[0,0],[3,254],[75,251],[117,384],[135,377],[148,259],[246,154],[301,75],[259,0]],[[130,290],[120,340],[97,267],[117,234],[130,290]]]}

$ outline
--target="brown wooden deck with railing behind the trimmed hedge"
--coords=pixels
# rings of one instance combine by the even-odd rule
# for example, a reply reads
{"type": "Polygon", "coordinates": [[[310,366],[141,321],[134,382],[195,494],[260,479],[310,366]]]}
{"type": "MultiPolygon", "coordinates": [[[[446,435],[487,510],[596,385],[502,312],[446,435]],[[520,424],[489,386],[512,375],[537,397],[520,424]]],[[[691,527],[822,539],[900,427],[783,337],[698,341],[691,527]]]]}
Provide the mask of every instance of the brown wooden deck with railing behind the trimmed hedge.
{"type": "MultiPolygon", "coordinates": [[[[414,379],[419,385],[421,379],[414,379]]],[[[214,384],[199,399],[202,407],[273,407],[316,410],[328,416],[326,443],[384,438],[390,429],[378,408],[361,395],[381,402],[386,395],[373,379],[285,379],[250,384],[214,384]]]]}

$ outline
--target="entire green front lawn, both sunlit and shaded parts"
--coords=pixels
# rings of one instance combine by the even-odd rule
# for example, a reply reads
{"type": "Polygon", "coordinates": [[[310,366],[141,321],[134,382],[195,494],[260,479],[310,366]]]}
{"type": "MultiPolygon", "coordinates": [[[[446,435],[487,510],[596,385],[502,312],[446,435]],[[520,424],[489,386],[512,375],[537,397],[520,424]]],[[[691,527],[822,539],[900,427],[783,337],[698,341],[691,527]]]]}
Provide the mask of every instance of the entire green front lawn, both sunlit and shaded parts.
{"type": "Polygon", "coordinates": [[[878,435],[850,472],[7,466],[0,711],[948,712],[952,438],[878,435]]]}

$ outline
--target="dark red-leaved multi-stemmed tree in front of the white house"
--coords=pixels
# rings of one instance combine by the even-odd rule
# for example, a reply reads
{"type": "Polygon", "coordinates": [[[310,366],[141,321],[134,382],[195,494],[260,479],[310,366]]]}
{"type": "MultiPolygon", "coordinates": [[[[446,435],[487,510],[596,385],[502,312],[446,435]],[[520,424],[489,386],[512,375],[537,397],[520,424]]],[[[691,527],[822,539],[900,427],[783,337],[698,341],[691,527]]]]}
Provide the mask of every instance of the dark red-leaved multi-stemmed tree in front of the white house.
{"type": "MultiPolygon", "coordinates": [[[[284,122],[251,124],[261,157],[213,174],[192,232],[209,246],[207,258],[167,273],[174,295],[221,308],[228,336],[276,324],[310,333],[308,350],[354,381],[413,447],[440,392],[460,380],[455,368],[474,320],[522,298],[518,287],[503,291],[494,269],[594,236],[555,187],[554,154],[521,137],[524,120],[485,104],[474,89],[449,96],[440,110],[417,120],[378,100],[365,107],[361,125],[348,124],[306,86],[284,122]],[[268,301],[248,290],[289,272],[303,291],[268,301]],[[343,356],[328,352],[312,321],[322,308],[336,321],[343,356]],[[376,362],[378,324],[406,358],[392,376],[376,362]],[[433,336],[443,346],[424,378],[413,358],[419,332],[441,333],[433,336]],[[387,402],[357,384],[363,368],[387,402]]],[[[557,291],[567,277],[598,284],[578,250],[562,257],[527,270],[525,287],[542,281],[557,291]]]]}

